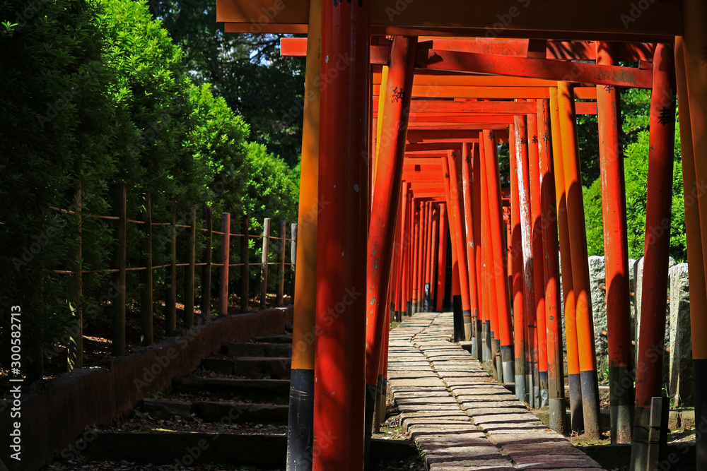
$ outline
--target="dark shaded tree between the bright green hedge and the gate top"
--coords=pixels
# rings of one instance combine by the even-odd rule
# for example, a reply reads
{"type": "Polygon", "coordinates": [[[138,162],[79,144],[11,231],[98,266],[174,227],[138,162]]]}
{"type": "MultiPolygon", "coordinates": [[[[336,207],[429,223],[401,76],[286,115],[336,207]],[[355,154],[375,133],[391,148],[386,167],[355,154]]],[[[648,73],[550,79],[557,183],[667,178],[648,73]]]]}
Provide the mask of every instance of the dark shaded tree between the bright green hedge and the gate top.
{"type": "Polygon", "coordinates": [[[225,34],[216,23],[216,0],[151,0],[194,81],[211,83],[215,95],[250,125],[251,139],[294,167],[302,138],[304,60],[283,57],[283,35],[225,34]]]}

